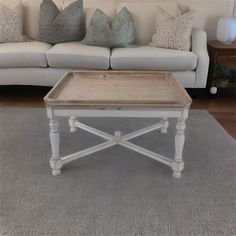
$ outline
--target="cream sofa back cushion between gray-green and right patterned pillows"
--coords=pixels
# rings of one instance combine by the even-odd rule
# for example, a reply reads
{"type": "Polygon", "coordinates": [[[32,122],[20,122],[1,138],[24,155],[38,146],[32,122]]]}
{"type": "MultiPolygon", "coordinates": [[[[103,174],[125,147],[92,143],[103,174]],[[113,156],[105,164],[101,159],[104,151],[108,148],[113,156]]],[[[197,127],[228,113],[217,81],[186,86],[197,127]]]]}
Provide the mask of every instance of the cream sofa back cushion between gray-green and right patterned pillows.
{"type": "Polygon", "coordinates": [[[138,43],[147,45],[152,41],[155,33],[155,21],[158,13],[158,6],[162,7],[173,16],[178,14],[178,6],[173,2],[121,2],[117,4],[116,10],[119,12],[126,7],[134,20],[138,43]]]}

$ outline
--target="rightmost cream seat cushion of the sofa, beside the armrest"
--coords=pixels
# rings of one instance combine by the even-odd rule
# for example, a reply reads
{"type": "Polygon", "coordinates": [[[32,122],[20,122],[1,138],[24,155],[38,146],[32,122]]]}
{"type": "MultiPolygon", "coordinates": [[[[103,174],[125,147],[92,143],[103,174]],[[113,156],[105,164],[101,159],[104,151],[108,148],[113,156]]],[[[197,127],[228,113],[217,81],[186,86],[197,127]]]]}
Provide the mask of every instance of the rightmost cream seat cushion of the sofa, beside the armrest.
{"type": "Polygon", "coordinates": [[[117,70],[194,70],[197,56],[189,51],[142,46],[115,48],[111,53],[111,68],[117,70]]]}

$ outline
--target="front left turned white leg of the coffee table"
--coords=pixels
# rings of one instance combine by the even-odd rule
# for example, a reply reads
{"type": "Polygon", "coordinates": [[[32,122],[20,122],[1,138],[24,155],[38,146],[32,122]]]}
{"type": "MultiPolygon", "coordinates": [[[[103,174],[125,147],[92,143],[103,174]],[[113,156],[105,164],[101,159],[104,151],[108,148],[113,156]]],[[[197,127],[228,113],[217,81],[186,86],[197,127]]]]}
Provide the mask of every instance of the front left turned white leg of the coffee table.
{"type": "Polygon", "coordinates": [[[59,175],[61,173],[62,161],[59,154],[59,123],[57,119],[50,119],[50,142],[52,148],[52,157],[50,159],[50,166],[52,168],[52,175],[59,175]]]}

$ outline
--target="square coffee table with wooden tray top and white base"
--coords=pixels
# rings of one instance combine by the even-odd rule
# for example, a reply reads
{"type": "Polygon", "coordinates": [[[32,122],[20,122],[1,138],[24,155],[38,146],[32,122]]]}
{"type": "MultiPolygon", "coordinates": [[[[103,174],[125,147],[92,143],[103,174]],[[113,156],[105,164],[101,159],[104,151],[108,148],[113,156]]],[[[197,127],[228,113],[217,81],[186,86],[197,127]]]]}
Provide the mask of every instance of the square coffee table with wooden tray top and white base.
{"type": "Polygon", "coordinates": [[[92,153],[121,145],[153,158],[181,177],[184,169],[182,150],[185,141],[185,120],[191,98],[169,72],[152,71],[77,71],[68,73],[45,96],[47,115],[50,119],[53,175],[59,175],[63,165],[92,153]],[[98,135],[106,141],[82,151],[61,157],[59,154],[58,117],[68,117],[71,132],[78,128],[98,135]],[[79,122],[80,117],[143,117],[159,118],[149,127],[121,135],[114,135],[79,122]],[[165,134],[168,118],[176,118],[175,156],[168,158],[130,142],[131,139],[160,129],[165,134]]]}

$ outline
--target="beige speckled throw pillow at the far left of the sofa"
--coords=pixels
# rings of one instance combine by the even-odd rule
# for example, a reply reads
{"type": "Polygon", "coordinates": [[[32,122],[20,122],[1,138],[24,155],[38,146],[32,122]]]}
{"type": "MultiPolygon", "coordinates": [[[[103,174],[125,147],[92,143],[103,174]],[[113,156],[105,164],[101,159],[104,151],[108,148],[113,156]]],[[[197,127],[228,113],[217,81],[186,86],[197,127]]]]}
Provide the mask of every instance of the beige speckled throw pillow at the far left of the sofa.
{"type": "Polygon", "coordinates": [[[21,4],[9,8],[0,3],[0,42],[23,41],[23,9],[21,4]]]}

